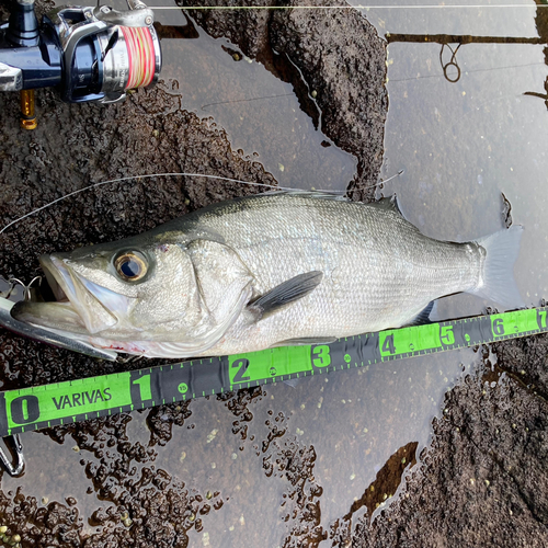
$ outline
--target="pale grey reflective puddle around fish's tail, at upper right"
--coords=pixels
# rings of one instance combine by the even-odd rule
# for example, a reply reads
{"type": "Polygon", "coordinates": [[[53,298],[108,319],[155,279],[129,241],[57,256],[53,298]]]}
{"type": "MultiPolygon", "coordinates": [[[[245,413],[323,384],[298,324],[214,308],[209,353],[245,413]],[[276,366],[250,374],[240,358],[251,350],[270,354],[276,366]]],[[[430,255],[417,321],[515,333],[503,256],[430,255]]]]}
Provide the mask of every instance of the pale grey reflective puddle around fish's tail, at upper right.
{"type": "MultiPolygon", "coordinates": [[[[548,13],[515,3],[525,8],[367,12],[389,43],[383,173],[406,169],[379,195],[396,192],[424,233],[466,241],[504,227],[504,194],[513,222],[525,227],[517,285],[538,306],[548,295],[548,13]]],[[[443,299],[438,312],[469,316],[486,305],[461,295],[443,299]]]]}

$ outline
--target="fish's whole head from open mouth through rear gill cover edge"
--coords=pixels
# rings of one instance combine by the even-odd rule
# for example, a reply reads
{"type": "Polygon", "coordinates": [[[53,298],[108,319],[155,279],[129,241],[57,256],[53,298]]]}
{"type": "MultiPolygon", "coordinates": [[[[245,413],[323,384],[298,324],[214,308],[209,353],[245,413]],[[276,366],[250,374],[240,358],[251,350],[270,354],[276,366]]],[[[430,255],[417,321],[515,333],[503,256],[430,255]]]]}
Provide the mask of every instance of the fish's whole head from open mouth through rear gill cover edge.
{"type": "Polygon", "coordinates": [[[12,317],[150,357],[209,349],[249,301],[252,274],[222,242],[142,236],[43,255],[57,301],[18,302],[12,317]]]}

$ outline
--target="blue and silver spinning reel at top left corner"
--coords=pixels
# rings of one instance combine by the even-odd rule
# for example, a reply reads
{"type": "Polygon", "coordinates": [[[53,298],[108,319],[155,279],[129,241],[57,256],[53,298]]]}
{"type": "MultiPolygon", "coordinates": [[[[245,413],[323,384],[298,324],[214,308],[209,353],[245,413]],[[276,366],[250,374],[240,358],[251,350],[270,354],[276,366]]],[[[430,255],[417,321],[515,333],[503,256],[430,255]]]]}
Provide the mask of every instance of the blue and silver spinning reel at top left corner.
{"type": "Polygon", "coordinates": [[[129,10],[59,7],[38,23],[34,0],[14,0],[0,24],[0,91],[20,91],[22,126],[36,127],[36,88],[57,87],[69,103],[123,101],[128,89],[153,85],[161,50],[153,12],[140,0],[129,10]]]}

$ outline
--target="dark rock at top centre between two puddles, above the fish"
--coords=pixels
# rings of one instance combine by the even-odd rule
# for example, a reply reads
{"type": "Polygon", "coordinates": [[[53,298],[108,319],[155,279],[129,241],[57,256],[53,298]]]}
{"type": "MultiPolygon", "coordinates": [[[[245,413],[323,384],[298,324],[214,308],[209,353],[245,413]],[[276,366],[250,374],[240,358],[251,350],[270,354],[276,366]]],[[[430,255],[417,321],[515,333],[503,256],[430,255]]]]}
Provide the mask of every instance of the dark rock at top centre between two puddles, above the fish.
{"type": "MultiPolygon", "coordinates": [[[[183,5],[183,2],[180,2],[183,5]]],[[[212,5],[208,1],[193,5],[212,5]]],[[[219,2],[220,4],[220,2],[219,2]]],[[[216,5],[216,2],[213,2],[216,5]]],[[[238,5],[258,5],[238,2],[238,5]]],[[[259,5],[345,5],[336,1],[265,1],[259,5]]],[[[354,9],[193,11],[213,36],[227,36],[242,52],[294,84],[301,109],[343,150],[356,156],[349,186],[354,199],[370,199],[383,162],[388,96],[385,45],[354,9]],[[302,79],[306,82],[304,85],[302,79]]]]}

